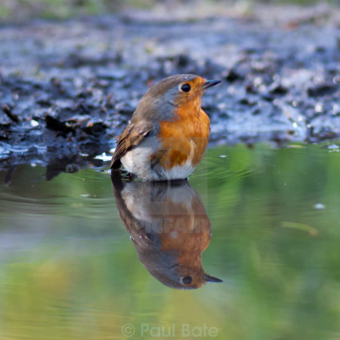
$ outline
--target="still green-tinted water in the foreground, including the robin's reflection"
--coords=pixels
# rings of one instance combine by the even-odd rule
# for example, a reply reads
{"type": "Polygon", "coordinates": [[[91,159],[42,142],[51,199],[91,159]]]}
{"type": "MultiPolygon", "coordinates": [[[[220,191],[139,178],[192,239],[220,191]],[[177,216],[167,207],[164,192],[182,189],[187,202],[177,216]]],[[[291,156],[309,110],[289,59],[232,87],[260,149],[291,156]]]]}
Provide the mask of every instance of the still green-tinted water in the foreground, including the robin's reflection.
{"type": "Polygon", "coordinates": [[[338,151],[209,149],[171,187],[1,171],[0,339],[340,339],[338,151]],[[205,232],[138,227],[164,216],[205,232]]]}

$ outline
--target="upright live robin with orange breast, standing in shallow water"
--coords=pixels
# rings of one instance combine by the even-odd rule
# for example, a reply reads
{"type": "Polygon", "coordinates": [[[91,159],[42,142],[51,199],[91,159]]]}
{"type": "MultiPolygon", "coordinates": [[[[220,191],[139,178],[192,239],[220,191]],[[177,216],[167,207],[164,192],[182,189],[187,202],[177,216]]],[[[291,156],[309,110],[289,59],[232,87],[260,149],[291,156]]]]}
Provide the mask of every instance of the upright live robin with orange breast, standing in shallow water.
{"type": "Polygon", "coordinates": [[[177,74],[152,86],[118,139],[111,169],[123,164],[145,180],[185,179],[200,163],[210,134],[201,96],[220,82],[177,74]]]}

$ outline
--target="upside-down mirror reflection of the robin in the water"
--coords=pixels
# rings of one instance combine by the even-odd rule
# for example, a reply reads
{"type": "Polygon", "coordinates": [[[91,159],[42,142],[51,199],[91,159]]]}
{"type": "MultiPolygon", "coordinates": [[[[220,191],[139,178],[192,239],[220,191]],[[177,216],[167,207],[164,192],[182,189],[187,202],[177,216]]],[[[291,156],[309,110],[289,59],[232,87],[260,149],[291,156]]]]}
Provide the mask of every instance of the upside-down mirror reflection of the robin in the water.
{"type": "Polygon", "coordinates": [[[138,258],[152,276],[179,289],[222,282],[202,268],[201,253],[209,245],[211,226],[199,194],[188,182],[112,177],[112,188],[138,258]]]}

